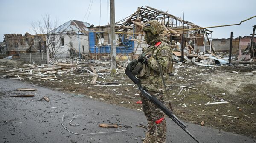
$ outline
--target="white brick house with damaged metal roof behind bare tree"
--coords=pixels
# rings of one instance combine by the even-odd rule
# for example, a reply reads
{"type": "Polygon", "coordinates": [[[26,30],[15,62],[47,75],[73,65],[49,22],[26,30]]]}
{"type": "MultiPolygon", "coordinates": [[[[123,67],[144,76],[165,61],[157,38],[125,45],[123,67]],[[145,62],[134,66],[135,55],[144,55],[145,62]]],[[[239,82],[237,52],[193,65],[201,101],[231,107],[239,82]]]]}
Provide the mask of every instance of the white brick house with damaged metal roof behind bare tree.
{"type": "Polygon", "coordinates": [[[70,20],[47,34],[47,43],[58,47],[55,58],[67,58],[79,52],[88,53],[87,22],[70,20]]]}

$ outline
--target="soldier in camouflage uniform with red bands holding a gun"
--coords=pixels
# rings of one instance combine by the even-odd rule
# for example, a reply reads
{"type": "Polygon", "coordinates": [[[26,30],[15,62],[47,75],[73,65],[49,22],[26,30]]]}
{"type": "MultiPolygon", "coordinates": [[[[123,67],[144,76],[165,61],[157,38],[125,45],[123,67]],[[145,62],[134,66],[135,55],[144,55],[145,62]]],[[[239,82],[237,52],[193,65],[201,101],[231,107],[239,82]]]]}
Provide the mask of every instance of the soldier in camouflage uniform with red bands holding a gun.
{"type": "MultiPolygon", "coordinates": [[[[138,62],[142,63],[143,68],[137,74],[137,78],[140,79],[144,90],[164,104],[163,81],[159,70],[163,71],[165,81],[169,78],[169,73],[172,73],[170,41],[160,35],[163,33],[163,28],[157,21],[146,22],[143,25],[142,31],[149,46],[140,54],[138,60],[132,60],[127,68],[132,71],[138,62]],[[159,62],[162,69],[159,69],[157,62],[159,62]]],[[[148,101],[141,93],[140,97],[143,111],[148,121],[148,130],[143,143],[165,143],[166,121],[163,111],[148,101]]]]}

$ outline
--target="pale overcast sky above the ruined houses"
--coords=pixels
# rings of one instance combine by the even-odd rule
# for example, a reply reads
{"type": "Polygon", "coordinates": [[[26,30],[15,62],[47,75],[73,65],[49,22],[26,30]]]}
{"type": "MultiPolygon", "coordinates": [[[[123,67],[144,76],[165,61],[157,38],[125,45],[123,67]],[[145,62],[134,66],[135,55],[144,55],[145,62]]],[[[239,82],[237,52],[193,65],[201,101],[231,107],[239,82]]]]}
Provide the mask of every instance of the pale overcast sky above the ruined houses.
{"type": "MultiPolygon", "coordinates": [[[[116,22],[146,5],[177,17],[182,17],[184,10],[184,20],[201,27],[236,24],[256,15],[256,0],[115,0],[116,22]]],[[[0,0],[0,42],[3,34],[33,34],[31,23],[41,20],[44,14],[58,18],[60,25],[69,20],[107,25],[109,0],[0,0]]],[[[231,31],[234,37],[250,36],[253,25],[256,17],[241,25],[209,30],[213,31],[212,38],[228,38],[231,31]]]]}

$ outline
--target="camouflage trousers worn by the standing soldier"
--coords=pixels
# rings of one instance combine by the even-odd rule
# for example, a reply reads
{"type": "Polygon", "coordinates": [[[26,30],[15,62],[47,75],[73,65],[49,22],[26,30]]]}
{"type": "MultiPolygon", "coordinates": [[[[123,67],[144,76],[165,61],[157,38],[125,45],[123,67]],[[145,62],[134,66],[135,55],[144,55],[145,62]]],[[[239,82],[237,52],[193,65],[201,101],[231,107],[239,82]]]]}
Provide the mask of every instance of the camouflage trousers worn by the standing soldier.
{"type": "MultiPolygon", "coordinates": [[[[163,93],[148,91],[148,93],[156,97],[160,102],[164,103],[163,93]]],[[[148,131],[143,143],[165,143],[166,142],[166,121],[163,119],[159,124],[157,120],[164,117],[164,113],[154,103],[149,101],[140,93],[143,112],[148,121],[148,131]]]]}

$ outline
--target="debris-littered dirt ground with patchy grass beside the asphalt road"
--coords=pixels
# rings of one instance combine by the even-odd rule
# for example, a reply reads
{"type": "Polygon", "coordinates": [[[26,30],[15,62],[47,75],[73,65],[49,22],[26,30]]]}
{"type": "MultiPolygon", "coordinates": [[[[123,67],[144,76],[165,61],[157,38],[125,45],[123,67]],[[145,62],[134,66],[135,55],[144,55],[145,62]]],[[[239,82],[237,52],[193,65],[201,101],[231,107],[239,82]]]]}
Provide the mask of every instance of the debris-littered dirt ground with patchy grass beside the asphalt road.
{"type": "MultiPolygon", "coordinates": [[[[256,138],[256,66],[200,67],[192,64],[175,64],[173,73],[166,85],[174,114],[178,118],[195,124],[204,121],[204,126],[256,138]],[[178,94],[180,86],[196,89],[183,88],[178,94]],[[204,105],[219,101],[228,103],[204,105]]],[[[90,84],[93,74],[87,72],[56,76],[55,80],[23,81],[142,110],[142,105],[136,103],[140,101],[139,90],[125,73],[120,73],[116,77],[110,76],[109,72],[102,73],[97,79],[97,84],[90,84]]],[[[168,97],[165,99],[168,106],[168,97]]]]}

